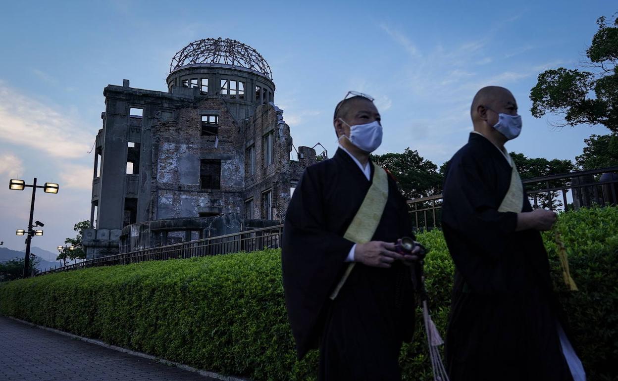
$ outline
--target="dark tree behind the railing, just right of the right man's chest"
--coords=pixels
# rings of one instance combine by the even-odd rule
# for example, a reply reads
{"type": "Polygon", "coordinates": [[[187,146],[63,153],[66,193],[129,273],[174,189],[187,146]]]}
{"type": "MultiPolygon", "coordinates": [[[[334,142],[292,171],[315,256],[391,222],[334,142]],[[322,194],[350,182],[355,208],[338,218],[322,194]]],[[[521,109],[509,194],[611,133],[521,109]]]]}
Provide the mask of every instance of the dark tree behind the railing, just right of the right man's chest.
{"type": "MultiPolygon", "coordinates": [[[[519,172],[519,176],[522,180],[526,180],[528,178],[535,177],[544,177],[551,175],[560,175],[560,174],[568,174],[569,172],[573,172],[575,169],[575,164],[573,164],[570,160],[561,160],[561,159],[545,159],[544,157],[531,158],[526,157],[522,153],[510,153],[510,157],[512,157],[515,162],[515,167],[517,167],[517,172],[519,172]]],[[[557,186],[566,186],[569,180],[553,180],[549,182],[549,187],[554,188],[557,186]]],[[[541,190],[547,188],[547,184],[545,182],[530,184],[527,186],[528,191],[533,190],[541,190]]],[[[558,196],[557,191],[553,191],[550,193],[550,198],[546,196],[546,193],[543,193],[538,198],[538,203],[540,207],[546,207],[550,209],[557,209],[557,207],[562,206],[562,201],[560,199],[556,199],[558,196]]]]}

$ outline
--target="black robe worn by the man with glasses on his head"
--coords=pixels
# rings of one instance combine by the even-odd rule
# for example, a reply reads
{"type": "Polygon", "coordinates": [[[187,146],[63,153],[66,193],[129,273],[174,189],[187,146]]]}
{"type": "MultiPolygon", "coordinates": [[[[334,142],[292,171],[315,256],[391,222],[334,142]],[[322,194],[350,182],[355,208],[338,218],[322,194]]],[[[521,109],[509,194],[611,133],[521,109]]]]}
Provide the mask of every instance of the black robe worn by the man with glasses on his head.
{"type": "MultiPolygon", "coordinates": [[[[405,199],[388,179],[373,240],[394,243],[413,236],[405,199]]],[[[412,337],[410,267],[399,261],[390,269],[357,263],[337,298],[329,299],[354,245],[344,233],[370,185],[337,149],[332,159],[305,170],[287,209],[281,253],[287,311],[298,357],[320,346],[320,380],[399,380],[400,346],[412,337]]]]}

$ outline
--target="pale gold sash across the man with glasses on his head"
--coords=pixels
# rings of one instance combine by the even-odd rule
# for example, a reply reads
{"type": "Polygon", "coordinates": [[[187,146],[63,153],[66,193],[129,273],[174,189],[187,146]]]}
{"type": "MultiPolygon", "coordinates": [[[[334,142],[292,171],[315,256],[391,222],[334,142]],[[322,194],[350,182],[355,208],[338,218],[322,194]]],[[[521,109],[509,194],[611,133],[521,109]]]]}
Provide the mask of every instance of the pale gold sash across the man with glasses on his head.
{"type": "MultiPolygon", "coordinates": [[[[347,228],[344,234],[346,240],[350,240],[354,243],[367,243],[371,241],[371,237],[376,232],[384,207],[386,206],[386,200],[388,199],[388,178],[386,177],[386,171],[373,164],[373,181],[371,186],[365,195],[363,203],[358,208],[356,216],[352,219],[352,223],[347,228]]],[[[339,290],[343,287],[345,280],[352,272],[355,262],[352,262],[345,269],[344,275],[337,283],[337,287],[332,291],[331,299],[334,300],[339,294],[339,290]]]]}

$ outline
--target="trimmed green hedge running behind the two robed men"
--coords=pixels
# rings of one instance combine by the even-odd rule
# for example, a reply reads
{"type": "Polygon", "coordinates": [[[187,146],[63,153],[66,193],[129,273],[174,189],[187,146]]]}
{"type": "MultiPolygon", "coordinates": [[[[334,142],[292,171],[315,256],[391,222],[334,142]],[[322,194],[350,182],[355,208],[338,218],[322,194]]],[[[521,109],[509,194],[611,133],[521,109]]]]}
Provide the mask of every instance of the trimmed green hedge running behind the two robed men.
{"type": "MultiPolygon", "coordinates": [[[[554,284],[589,380],[617,377],[618,208],[561,214],[561,232],[580,291],[567,291],[552,233],[544,240],[554,284]]],[[[454,267],[441,232],[426,287],[444,333],[454,267]]],[[[0,313],[159,358],[254,380],[315,380],[317,353],[297,361],[281,285],[279,250],[96,267],[0,285],[0,313]]],[[[400,356],[405,380],[430,380],[420,315],[400,356]]]]}

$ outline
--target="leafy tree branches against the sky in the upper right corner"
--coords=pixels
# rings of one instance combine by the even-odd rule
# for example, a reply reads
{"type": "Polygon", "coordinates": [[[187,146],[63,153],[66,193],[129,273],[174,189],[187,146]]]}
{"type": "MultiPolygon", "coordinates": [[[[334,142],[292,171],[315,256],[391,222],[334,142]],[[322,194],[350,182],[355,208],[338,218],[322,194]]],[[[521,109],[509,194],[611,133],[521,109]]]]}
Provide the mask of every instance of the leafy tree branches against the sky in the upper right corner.
{"type": "Polygon", "coordinates": [[[618,18],[613,25],[607,25],[605,17],[596,23],[599,30],[586,50],[588,61],[583,63],[591,71],[559,67],[541,73],[530,90],[534,117],[551,112],[564,118],[557,127],[601,124],[618,132],[618,18]]]}

